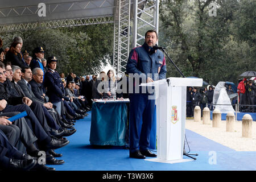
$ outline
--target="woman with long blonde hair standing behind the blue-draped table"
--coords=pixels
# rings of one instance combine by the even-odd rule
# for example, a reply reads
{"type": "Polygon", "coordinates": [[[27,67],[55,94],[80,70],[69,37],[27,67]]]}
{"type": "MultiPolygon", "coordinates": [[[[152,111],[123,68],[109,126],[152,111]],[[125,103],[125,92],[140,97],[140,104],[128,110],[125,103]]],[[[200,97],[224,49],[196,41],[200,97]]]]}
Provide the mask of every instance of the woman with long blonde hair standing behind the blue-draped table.
{"type": "Polygon", "coordinates": [[[103,98],[115,98],[117,91],[117,80],[115,79],[115,74],[112,69],[106,74],[106,79],[104,80],[104,93],[103,98]]]}

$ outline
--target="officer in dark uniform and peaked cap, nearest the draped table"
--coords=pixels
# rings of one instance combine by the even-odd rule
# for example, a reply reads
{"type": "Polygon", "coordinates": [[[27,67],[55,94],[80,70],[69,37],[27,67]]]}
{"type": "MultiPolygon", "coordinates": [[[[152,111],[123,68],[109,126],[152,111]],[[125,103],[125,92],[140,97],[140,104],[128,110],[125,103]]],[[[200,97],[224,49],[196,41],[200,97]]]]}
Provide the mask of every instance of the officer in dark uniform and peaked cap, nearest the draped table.
{"type": "Polygon", "coordinates": [[[57,59],[51,56],[47,59],[48,71],[44,75],[44,86],[47,88],[49,102],[56,106],[56,111],[61,115],[61,100],[64,97],[64,86],[60,75],[55,71],[57,59]]]}

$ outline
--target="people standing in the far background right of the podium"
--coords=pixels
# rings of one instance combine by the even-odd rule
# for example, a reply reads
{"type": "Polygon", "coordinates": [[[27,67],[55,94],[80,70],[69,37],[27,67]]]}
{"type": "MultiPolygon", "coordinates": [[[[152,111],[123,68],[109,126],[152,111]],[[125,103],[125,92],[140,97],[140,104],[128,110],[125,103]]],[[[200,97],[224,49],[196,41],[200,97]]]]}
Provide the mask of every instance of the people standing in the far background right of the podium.
{"type": "MultiPolygon", "coordinates": [[[[254,113],[256,111],[255,107],[255,96],[256,96],[256,85],[253,80],[247,80],[247,78],[243,78],[237,86],[238,97],[233,96],[232,94],[236,93],[232,89],[231,84],[225,84],[226,92],[230,97],[230,104],[240,105],[239,110],[241,112],[251,112],[254,113]]],[[[193,117],[195,106],[200,106],[201,114],[203,114],[204,107],[209,107],[210,110],[214,110],[213,106],[213,94],[214,87],[213,85],[205,88],[192,88],[189,86],[187,88],[187,117],[193,117]]]]}

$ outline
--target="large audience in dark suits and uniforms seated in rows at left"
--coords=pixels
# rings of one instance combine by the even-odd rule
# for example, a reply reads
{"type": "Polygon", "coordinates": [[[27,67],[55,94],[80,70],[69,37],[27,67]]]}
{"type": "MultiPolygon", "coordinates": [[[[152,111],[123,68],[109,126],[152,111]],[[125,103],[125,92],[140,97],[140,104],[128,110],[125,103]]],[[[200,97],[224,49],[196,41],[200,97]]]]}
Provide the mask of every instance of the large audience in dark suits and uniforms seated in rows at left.
{"type": "Polygon", "coordinates": [[[43,47],[21,52],[22,38],[10,47],[0,39],[0,169],[54,171],[46,164],[63,164],[56,148],[69,144],[75,122],[90,110],[79,85],[67,84],[56,71],[55,56],[44,58],[43,47]],[[10,117],[26,111],[11,122],[10,117]]]}

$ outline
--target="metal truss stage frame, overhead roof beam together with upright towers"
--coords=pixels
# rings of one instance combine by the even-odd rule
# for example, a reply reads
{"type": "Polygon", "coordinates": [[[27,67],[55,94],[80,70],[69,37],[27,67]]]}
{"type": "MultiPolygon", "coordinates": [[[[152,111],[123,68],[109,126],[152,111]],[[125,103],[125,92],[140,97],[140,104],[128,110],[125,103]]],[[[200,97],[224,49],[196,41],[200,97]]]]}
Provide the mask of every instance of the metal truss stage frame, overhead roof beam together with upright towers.
{"type": "Polygon", "coordinates": [[[0,31],[114,23],[113,67],[121,76],[129,57],[130,36],[136,47],[142,44],[145,30],[158,32],[158,7],[159,0],[9,0],[1,3],[0,31]],[[44,3],[46,16],[39,16],[39,3],[44,3]]]}

